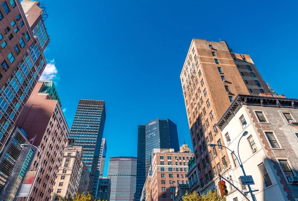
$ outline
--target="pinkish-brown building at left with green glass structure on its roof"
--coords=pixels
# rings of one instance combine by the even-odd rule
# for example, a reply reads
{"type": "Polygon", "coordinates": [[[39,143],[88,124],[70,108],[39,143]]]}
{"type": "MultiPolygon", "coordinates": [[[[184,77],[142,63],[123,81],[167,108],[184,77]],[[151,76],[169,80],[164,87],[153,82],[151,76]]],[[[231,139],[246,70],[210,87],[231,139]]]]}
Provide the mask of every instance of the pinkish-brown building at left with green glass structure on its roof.
{"type": "Polygon", "coordinates": [[[70,132],[59,96],[55,95],[57,90],[52,81],[39,81],[16,121],[16,125],[27,133],[27,139],[34,138],[33,145],[41,151],[41,155],[35,154],[29,167],[30,171],[37,171],[42,158],[41,170],[30,195],[34,201],[49,200],[70,132]]]}

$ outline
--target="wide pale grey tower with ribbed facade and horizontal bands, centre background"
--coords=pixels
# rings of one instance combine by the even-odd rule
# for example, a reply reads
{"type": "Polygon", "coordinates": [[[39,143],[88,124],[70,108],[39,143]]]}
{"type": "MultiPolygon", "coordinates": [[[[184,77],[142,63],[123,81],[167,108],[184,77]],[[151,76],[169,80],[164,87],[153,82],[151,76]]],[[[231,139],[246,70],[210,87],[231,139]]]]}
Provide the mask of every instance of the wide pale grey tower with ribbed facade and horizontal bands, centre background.
{"type": "Polygon", "coordinates": [[[110,201],[134,201],[137,184],[137,158],[110,157],[108,178],[111,180],[110,201]]]}

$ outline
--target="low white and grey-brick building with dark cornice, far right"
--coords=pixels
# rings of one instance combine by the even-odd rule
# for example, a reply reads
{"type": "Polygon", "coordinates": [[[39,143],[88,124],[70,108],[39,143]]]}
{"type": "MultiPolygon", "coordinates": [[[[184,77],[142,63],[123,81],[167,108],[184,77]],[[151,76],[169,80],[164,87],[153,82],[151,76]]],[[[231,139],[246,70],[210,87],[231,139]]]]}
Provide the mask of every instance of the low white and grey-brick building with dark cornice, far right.
{"type": "MultiPolygon", "coordinates": [[[[254,192],[257,201],[298,200],[297,109],[298,99],[238,95],[218,122],[225,146],[239,154],[246,175],[253,177],[255,185],[251,188],[259,190],[254,192]],[[247,134],[242,136],[244,132],[247,134]]],[[[223,176],[247,192],[239,179],[243,176],[240,162],[232,153],[228,157],[230,171],[223,176]]],[[[245,200],[230,185],[227,187],[227,201],[245,200]]],[[[250,194],[247,197],[251,199],[250,194]]]]}

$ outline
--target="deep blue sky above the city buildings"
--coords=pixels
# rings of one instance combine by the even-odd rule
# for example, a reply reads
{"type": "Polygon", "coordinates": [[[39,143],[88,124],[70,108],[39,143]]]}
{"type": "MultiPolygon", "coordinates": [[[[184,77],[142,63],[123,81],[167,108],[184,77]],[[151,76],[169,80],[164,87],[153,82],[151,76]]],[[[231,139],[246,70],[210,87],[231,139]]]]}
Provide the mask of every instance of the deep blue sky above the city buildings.
{"type": "Polygon", "coordinates": [[[79,99],[106,102],[104,175],[110,156],[137,156],[138,125],[157,117],[175,122],[180,145],[185,137],[192,148],[179,79],[192,38],[220,38],[250,54],[277,93],[298,98],[294,0],[41,2],[49,14],[48,73],[69,126],[79,99]]]}

